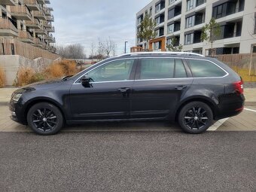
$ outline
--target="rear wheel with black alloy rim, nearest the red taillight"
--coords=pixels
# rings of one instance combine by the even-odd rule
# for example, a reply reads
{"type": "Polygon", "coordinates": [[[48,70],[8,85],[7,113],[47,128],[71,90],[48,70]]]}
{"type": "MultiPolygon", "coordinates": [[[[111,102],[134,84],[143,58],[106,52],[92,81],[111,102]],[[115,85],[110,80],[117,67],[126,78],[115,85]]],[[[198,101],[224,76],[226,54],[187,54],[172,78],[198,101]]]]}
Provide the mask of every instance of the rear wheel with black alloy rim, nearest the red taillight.
{"type": "Polygon", "coordinates": [[[185,133],[204,133],[212,122],[212,109],[204,102],[190,102],[178,114],[178,123],[185,133]]]}

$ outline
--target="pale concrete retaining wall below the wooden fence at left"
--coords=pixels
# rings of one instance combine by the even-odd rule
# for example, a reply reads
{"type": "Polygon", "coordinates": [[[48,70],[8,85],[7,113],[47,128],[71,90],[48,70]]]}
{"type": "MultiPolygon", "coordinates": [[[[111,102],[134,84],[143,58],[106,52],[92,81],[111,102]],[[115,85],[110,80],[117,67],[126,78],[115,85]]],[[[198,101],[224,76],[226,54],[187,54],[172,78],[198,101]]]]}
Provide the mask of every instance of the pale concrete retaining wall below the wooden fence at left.
{"type": "Polygon", "coordinates": [[[32,60],[18,55],[0,55],[0,67],[5,70],[6,85],[12,85],[14,83],[17,72],[21,67],[29,67],[34,69],[35,72],[41,72],[52,62],[53,60],[45,58],[32,60]]]}

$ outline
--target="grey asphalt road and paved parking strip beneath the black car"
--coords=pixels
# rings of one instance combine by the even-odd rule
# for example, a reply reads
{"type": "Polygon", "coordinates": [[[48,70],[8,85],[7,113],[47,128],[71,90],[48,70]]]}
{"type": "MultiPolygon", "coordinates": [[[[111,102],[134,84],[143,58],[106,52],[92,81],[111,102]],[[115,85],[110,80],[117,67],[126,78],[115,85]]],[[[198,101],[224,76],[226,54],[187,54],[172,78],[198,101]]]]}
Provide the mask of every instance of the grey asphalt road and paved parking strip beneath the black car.
{"type": "Polygon", "coordinates": [[[38,136],[0,106],[0,191],[256,191],[256,107],[201,135],[167,122],[38,136]]]}

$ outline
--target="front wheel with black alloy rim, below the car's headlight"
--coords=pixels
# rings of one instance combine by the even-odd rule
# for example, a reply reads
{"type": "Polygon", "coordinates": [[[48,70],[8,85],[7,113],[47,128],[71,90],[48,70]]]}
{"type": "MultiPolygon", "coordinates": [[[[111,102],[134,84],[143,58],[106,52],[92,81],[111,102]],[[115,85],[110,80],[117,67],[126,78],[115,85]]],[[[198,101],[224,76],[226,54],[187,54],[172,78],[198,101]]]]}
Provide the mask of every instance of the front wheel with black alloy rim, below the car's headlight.
{"type": "Polygon", "coordinates": [[[59,108],[48,102],[39,102],[29,108],[27,121],[32,130],[42,136],[58,133],[64,124],[59,108]]]}

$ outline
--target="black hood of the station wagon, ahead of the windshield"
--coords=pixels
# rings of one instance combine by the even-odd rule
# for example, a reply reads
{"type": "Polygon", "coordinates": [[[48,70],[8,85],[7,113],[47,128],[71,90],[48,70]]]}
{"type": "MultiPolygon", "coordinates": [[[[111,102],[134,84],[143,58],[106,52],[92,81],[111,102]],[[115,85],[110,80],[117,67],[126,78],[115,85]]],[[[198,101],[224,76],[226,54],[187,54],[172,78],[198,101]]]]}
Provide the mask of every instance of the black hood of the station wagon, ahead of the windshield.
{"type": "Polygon", "coordinates": [[[20,87],[19,90],[16,90],[15,93],[23,93],[26,91],[32,91],[32,90],[49,90],[54,89],[55,87],[60,86],[60,84],[63,84],[62,78],[47,80],[47,81],[39,81],[34,84],[28,84],[24,87],[20,87]]]}

